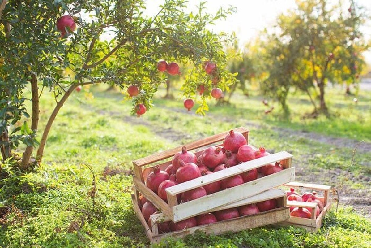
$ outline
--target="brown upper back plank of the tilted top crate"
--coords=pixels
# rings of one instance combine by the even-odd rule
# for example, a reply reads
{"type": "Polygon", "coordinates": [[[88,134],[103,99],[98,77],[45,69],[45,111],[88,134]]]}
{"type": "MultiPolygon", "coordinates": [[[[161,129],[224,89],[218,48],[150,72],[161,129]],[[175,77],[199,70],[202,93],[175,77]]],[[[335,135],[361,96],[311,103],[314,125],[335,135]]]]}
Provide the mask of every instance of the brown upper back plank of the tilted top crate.
{"type": "MultiPolygon", "coordinates": [[[[249,130],[245,127],[234,128],[233,130],[234,131],[239,131],[241,133],[249,132],[249,130]]],[[[137,160],[133,161],[133,163],[135,163],[137,166],[140,166],[140,167],[145,166],[147,164],[151,164],[151,163],[154,163],[154,162],[157,162],[157,161],[167,159],[169,157],[174,156],[175,153],[181,151],[183,146],[187,147],[187,150],[191,151],[191,150],[194,150],[194,149],[197,149],[197,148],[207,146],[209,144],[213,144],[213,143],[216,143],[218,141],[224,140],[224,137],[226,137],[226,135],[228,133],[229,133],[229,131],[226,131],[226,132],[223,132],[223,133],[220,133],[220,134],[215,134],[213,136],[206,137],[206,138],[203,138],[203,139],[200,139],[200,140],[197,140],[197,141],[193,141],[191,143],[188,143],[188,144],[185,144],[185,145],[182,145],[182,146],[178,146],[178,147],[175,147],[175,148],[170,149],[170,150],[166,150],[166,151],[162,151],[160,153],[152,154],[152,155],[144,157],[142,159],[137,159],[137,160]]]]}

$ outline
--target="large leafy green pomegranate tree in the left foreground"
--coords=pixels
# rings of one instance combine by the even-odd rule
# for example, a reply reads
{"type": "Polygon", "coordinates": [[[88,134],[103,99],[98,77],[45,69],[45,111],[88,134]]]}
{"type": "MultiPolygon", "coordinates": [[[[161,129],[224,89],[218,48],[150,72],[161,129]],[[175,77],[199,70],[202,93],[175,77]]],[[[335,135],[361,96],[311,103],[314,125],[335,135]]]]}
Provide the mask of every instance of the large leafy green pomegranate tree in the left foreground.
{"type": "MultiPolygon", "coordinates": [[[[3,1],[4,3],[4,1],[3,1]]],[[[26,168],[39,121],[39,97],[46,92],[55,96],[56,106],[42,131],[37,160],[41,161],[49,130],[60,108],[78,86],[115,84],[121,89],[138,85],[140,94],[133,105],[152,106],[152,97],[167,74],[157,71],[157,61],[190,63],[193,69],[185,77],[184,96],[196,95],[202,83],[211,88],[210,78],[203,70],[206,60],[217,63],[221,80],[217,87],[228,89],[235,81],[227,71],[227,55],[223,43],[232,39],[225,33],[215,34],[206,29],[214,20],[225,18],[234,9],[220,9],[216,14],[204,12],[201,3],[196,13],[185,13],[186,1],[165,0],[161,10],[152,17],[143,14],[145,1],[9,1],[0,19],[0,130],[3,159],[11,150],[26,144],[22,167],[26,168]],[[73,16],[76,30],[56,29],[63,15],[73,16]],[[88,17],[90,16],[90,17],[88,17]],[[112,31],[113,30],[113,31],[112,31]],[[113,33],[112,40],[99,37],[113,33]],[[71,73],[65,75],[64,71],[71,73]],[[32,122],[24,90],[31,88],[32,122]],[[24,120],[23,124],[20,123],[24,120]]],[[[197,113],[207,110],[206,92],[197,113]]],[[[133,113],[135,108],[133,108],[133,113]]]]}

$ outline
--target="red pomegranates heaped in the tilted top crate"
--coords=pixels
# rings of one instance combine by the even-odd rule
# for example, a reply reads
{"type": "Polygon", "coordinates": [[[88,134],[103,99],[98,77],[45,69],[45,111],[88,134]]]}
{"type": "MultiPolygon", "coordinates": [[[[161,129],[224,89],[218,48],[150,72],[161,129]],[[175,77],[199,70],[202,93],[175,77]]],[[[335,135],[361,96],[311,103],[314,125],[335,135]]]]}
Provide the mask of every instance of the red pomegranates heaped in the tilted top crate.
{"type": "MultiPolygon", "coordinates": [[[[168,187],[267,155],[270,155],[270,153],[267,153],[264,147],[260,147],[259,150],[255,151],[251,146],[247,145],[246,138],[242,133],[231,130],[224,138],[222,146],[211,146],[198,157],[194,153],[187,151],[186,147],[183,147],[179,153],[175,154],[171,164],[165,170],[160,170],[159,166],[154,166],[153,171],[146,179],[146,184],[148,188],[167,202],[165,189],[168,187]]],[[[178,202],[187,202],[250,182],[257,179],[259,173],[261,176],[267,176],[281,170],[282,166],[279,162],[267,164],[257,169],[184,192],[177,196],[178,202]]]]}

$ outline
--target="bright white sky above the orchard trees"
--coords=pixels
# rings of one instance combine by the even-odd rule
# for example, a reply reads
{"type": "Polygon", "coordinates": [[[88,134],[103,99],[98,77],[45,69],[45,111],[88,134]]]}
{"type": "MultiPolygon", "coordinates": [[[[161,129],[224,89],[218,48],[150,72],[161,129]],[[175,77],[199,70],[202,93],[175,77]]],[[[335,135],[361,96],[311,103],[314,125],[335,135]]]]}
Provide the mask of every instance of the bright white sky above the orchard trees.
{"type": "MultiPolygon", "coordinates": [[[[205,0],[204,0],[205,1],[205,0]]],[[[335,3],[338,0],[330,0],[335,3]]],[[[188,11],[196,10],[196,6],[201,0],[189,0],[188,11]]],[[[371,13],[371,0],[355,0],[359,5],[362,5],[368,9],[368,13],[371,13]]],[[[160,4],[163,4],[164,0],[147,0],[146,14],[154,16],[160,10],[160,4]]],[[[344,8],[348,9],[349,1],[343,0],[344,8]]],[[[226,20],[221,20],[212,25],[209,28],[215,32],[236,32],[236,36],[239,39],[240,45],[249,42],[265,27],[273,26],[275,24],[276,17],[280,13],[287,12],[288,9],[295,7],[295,0],[208,0],[206,3],[207,12],[215,13],[220,7],[227,8],[229,5],[237,8],[237,13],[227,17],[226,20]]],[[[365,37],[371,39],[371,20],[369,20],[364,27],[362,32],[365,37]]],[[[364,53],[365,60],[368,64],[371,64],[371,50],[364,53]]]]}

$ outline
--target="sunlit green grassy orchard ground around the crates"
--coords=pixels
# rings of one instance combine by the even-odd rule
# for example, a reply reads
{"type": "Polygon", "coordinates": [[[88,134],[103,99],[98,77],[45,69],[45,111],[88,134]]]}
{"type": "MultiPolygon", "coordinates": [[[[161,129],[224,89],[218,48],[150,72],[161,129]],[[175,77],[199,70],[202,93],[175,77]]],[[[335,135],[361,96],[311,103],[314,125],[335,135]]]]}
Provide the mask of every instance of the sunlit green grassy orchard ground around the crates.
{"type": "MultiPolygon", "coordinates": [[[[183,110],[181,101],[161,98],[142,118],[131,117],[130,102],[122,98],[102,89],[94,91],[93,99],[76,92],[55,121],[39,168],[20,174],[3,164],[9,176],[0,181],[1,247],[148,246],[130,202],[131,161],[240,125],[250,128],[255,146],[292,153],[297,180],[334,185],[341,205],[355,209],[331,211],[317,234],[264,227],[222,236],[198,233],[160,247],[371,246],[371,223],[361,217],[371,212],[369,150],[359,147],[348,171],[349,144],[363,139],[364,147],[370,146],[370,94],[361,94],[357,105],[353,97],[329,94],[337,113],[332,120],[302,120],[311,106],[297,95],[290,99],[291,122],[281,120],[276,110],[265,116],[262,98],[255,94],[249,99],[236,95],[232,105],[212,103],[207,117],[183,110]]],[[[41,125],[52,101],[42,98],[41,125]]]]}

